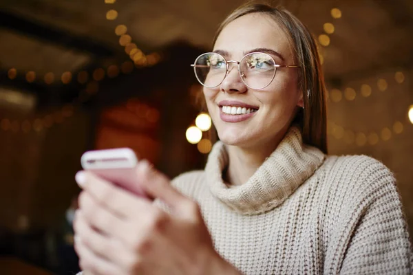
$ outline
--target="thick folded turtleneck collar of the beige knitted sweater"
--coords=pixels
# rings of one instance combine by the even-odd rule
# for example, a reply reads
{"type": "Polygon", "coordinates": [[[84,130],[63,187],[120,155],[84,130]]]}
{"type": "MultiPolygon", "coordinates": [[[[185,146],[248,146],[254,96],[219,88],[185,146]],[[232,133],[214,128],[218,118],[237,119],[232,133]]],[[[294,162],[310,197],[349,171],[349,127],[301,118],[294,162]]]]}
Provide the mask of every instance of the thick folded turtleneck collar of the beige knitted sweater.
{"type": "Polygon", "coordinates": [[[226,147],[217,142],[208,157],[205,172],[213,196],[240,214],[259,214],[285,201],[324,162],[324,153],[306,146],[301,132],[290,127],[275,151],[241,186],[227,186],[222,171],[229,164],[226,147]]]}

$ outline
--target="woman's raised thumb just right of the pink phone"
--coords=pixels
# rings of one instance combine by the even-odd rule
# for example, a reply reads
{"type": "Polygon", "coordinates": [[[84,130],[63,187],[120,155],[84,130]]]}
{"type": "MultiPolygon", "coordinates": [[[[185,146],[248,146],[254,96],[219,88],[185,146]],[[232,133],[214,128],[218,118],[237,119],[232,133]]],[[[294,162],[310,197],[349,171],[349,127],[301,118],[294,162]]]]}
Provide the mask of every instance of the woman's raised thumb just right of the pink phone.
{"type": "Polygon", "coordinates": [[[158,170],[153,169],[146,159],[138,164],[138,177],[142,179],[142,188],[151,197],[156,197],[167,203],[172,210],[177,210],[189,198],[182,195],[171,186],[171,181],[158,170]]]}

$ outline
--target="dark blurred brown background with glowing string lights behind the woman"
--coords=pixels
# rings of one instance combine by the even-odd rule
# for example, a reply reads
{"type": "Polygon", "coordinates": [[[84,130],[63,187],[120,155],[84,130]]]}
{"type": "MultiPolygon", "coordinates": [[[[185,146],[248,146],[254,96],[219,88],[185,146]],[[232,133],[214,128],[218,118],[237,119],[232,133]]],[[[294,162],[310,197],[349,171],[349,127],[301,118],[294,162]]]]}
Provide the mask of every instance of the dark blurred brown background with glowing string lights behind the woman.
{"type": "MultiPolygon", "coordinates": [[[[169,177],[204,166],[215,134],[189,65],[243,2],[1,0],[1,274],[77,271],[84,151],[129,146],[169,177]]],[[[319,41],[330,153],[390,167],[413,233],[413,1],[275,3],[319,41]]]]}

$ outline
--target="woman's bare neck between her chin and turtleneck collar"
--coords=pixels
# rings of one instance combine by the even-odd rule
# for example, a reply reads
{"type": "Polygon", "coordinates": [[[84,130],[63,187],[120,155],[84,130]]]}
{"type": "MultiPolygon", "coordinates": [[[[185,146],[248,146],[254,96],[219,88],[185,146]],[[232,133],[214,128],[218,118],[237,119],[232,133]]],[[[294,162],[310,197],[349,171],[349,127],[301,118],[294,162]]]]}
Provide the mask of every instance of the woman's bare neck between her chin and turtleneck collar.
{"type": "Polygon", "coordinates": [[[282,141],[286,131],[279,133],[271,141],[260,142],[259,146],[240,147],[226,146],[229,156],[229,164],[224,173],[224,181],[232,186],[240,186],[254,175],[267,157],[277,148],[282,141]]]}

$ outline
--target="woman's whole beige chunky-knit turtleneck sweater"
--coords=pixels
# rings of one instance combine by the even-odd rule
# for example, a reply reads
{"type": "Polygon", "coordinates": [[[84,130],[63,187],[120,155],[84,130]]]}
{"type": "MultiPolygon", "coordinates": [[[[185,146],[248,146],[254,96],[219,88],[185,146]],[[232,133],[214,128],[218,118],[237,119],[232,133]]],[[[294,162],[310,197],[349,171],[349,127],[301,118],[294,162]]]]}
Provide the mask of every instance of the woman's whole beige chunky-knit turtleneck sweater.
{"type": "Polygon", "coordinates": [[[413,274],[392,173],[366,156],[325,156],[290,128],[241,186],[217,142],[202,171],[173,180],[200,204],[215,249],[244,274],[413,274]]]}

